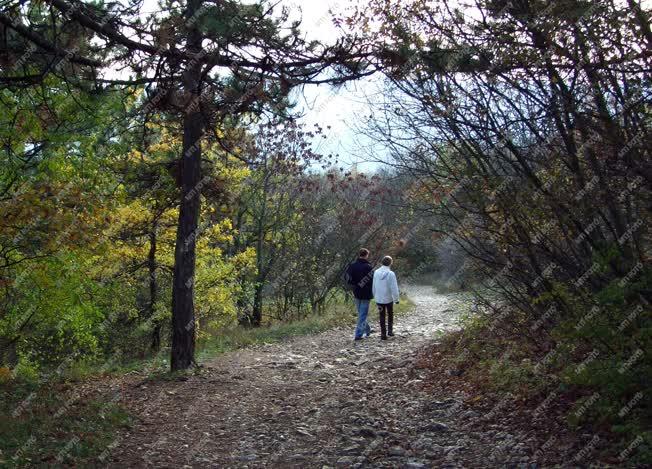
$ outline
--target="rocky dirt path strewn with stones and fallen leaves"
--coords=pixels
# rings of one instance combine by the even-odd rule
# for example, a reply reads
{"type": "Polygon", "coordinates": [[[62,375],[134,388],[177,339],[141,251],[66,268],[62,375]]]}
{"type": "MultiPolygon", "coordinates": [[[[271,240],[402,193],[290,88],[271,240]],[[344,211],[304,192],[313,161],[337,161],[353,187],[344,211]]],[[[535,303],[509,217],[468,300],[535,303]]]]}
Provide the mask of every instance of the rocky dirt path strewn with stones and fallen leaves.
{"type": "Polygon", "coordinates": [[[376,333],[353,342],[352,330],[332,330],[226,354],[201,376],[128,391],[125,403],[139,421],[119,436],[104,465],[420,468],[527,461],[509,439],[508,453],[496,453],[488,429],[469,429],[465,419],[473,411],[462,396],[432,396],[420,385],[423,376],[413,368],[419,349],[437,331],[456,327],[459,308],[454,297],[428,287],[408,294],[416,309],[396,320],[388,341],[376,333]]]}

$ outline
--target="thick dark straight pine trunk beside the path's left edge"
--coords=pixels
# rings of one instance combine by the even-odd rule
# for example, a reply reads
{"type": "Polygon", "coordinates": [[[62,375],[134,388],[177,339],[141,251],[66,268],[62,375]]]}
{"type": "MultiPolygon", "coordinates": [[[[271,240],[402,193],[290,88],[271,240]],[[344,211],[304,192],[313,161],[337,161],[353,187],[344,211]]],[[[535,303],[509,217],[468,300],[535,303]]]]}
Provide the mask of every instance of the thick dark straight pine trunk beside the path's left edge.
{"type": "MultiPolygon", "coordinates": [[[[202,0],[189,0],[190,19],[201,7],[202,0]]],[[[201,35],[196,27],[188,33],[188,50],[201,53],[201,35]]],[[[174,250],[172,285],[172,371],[189,368],[195,361],[195,247],[199,224],[199,182],[201,181],[202,115],[200,110],[201,64],[190,62],[183,76],[184,88],[191,96],[183,118],[183,154],[181,170],[181,203],[174,250]]]]}

